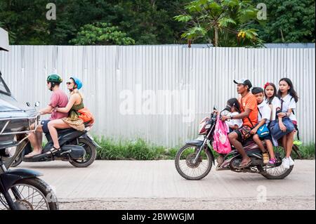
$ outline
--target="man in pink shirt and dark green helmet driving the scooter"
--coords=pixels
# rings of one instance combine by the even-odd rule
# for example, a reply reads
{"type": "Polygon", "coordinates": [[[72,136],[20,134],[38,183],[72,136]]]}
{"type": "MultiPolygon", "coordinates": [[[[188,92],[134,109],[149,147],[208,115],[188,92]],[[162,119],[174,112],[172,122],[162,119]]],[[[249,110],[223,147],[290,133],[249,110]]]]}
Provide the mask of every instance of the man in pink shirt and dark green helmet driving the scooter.
{"type": "MultiPolygon", "coordinates": [[[[51,102],[47,105],[47,107],[39,110],[39,113],[42,115],[51,114],[51,117],[48,120],[41,121],[41,125],[37,127],[36,133],[30,133],[29,142],[32,144],[34,150],[33,152],[27,154],[25,158],[31,158],[38,154],[41,154],[43,150],[41,147],[43,132],[49,133],[49,121],[60,119],[62,117],[67,117],[67,113],[56,112],[53,110],[53,108],[55,107],[65,107],[68,103],[66,93],[60,90],[60,83],[62,83],[62,78],[58,74],[50,74],[47,77],[47,87],[50,91],[53,92],[53,94],[51,95],[51,102]]],[[[34,129],[34,127],[32,127],[32,129],[34,129]]]]}

